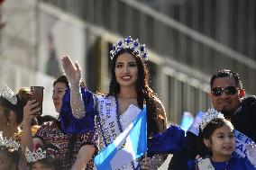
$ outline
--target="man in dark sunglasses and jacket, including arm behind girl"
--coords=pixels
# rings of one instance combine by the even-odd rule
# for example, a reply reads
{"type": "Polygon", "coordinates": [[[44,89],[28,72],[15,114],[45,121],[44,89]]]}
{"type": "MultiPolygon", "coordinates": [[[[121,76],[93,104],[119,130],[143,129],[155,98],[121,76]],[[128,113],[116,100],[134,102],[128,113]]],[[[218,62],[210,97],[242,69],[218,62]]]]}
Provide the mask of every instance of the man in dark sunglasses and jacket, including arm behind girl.
{"type": "MultiPolygon", "coordinates": [[[[233,123],[235,130],[256,142],[256,96],[245,97],[240,76],[227,69],[211,78],[210,98],[215,110],[233,123]]],[[[187,161],[197,156],[197,135],[187,131],[183,148],[173,155],[169,170],[186,170],[187,161]]]]}

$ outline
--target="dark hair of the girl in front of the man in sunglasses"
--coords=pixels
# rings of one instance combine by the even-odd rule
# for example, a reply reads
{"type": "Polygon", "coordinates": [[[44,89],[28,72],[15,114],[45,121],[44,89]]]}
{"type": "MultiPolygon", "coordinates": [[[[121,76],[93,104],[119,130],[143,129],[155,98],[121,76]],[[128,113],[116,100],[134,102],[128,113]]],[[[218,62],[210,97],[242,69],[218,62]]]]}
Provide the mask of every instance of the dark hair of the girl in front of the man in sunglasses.
{"type": "Polygon", "coordinates": [[[198,151],[201,157],[211,157],[213,155],[210,148],[207,148],[204,139],[210,139],[212,142],[212,135],[214,134],[215,130],[222,128],[224,126],[229,126],[233,130],[233,125],[230,121],[227,121],[223,118],[215,118],[212,121],[206,124],[206,127],[203,130],[199,130],[199,137],[198,137],[198,151]]]}

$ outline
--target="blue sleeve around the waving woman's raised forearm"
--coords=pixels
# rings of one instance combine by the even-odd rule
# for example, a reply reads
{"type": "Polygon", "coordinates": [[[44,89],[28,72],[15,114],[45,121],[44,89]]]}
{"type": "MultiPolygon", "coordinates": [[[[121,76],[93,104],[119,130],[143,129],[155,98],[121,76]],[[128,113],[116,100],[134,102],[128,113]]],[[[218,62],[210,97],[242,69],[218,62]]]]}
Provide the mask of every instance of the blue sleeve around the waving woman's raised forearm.
{"type": "Polygon", "coordinates": [[[83,102],[86,108],[86,115],[83,118],[75,118],[72,114],[69,88],[66,90],[62,98],[62,106],[59,113],[59,119],[61,128],[66,133],[81,134],[89,130],[94,130],[96,111],[94,108],[93,94],[86,90],[84,87],[80,88],[83,102]]]}

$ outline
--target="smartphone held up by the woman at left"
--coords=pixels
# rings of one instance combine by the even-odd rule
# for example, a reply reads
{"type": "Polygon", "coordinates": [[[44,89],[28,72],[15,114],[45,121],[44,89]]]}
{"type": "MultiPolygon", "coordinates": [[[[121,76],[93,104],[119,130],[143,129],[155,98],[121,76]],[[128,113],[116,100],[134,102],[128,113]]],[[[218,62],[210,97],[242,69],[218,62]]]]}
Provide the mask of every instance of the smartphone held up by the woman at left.
{"type": "Polygon", "coordinates": [[[36,102],[40,104],[39,107],[41,108],[41,111],[36,113],[38,115],[42,114],[43,89],[43,86],[31,86],[30,100],[36,100],[36,102]]]}

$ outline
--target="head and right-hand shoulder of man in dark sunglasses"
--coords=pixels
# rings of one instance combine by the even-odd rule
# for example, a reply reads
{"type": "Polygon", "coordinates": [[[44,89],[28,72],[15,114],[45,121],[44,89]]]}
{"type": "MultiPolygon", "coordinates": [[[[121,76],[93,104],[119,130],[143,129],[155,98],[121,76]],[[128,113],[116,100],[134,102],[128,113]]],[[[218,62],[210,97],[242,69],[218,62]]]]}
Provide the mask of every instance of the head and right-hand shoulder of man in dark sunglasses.
{"type": "Polygon", "coordinates": [[[215,110],[222,112],[235,130],[256,142],[256,97],[245,97],[237,73],[224,69],[212,76],[210,97],[215,110]]]}

